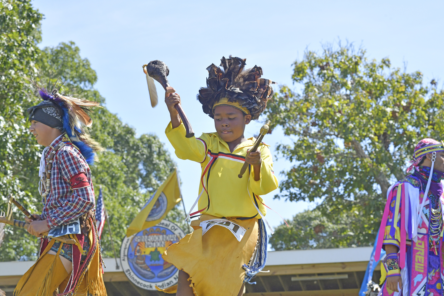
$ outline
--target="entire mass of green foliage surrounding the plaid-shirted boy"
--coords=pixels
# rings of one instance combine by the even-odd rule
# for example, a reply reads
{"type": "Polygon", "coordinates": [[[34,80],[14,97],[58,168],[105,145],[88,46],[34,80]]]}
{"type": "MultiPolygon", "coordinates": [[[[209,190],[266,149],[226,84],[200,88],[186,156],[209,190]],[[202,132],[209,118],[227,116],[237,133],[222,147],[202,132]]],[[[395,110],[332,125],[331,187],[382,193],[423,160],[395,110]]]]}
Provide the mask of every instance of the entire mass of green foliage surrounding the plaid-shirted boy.
{"type": "MultiPolygon", "coordinates": [[[[97,74],[88,59],[80,56],[75,43],[60,43],[43,50],[37,47],[42,15],[32,8],[30,1],[1,1],[0,8],[0,208],[6,210],[5,197],[13,193],[31,212],[40,213],[37,173],[43,147],[28,132],[26,121],[26,109],[40,99],[22,82],[23,75],[41,68],[46,75],[67,81],[66,89],[75,88],[86,99],[102,105],[105,99],[94,89],[97,74]]],[[[91,166],[92,182],[96,197],[102,185],[113,239],[119,249],[127,226],[175,164],[159,138],[153,134],[137,137],[134,128],[121,122],[106,107],[96,109],[91,117],[91,135],[106,148],[99,155],[100,161],[91,166]]],[[[15,215],[23,220],[20,212],[15,215]]],[[[175,208],[167,217],[178,222],[185,215],[175,208]]],[[[178,224],[184,227],[183,222],[178,224]]],[[[0,260],[36,258],[39,248],[36,237],[12,226],[5,229],[0,260]]],[[[105,257],[114,256],[106,227],[102,247],[105,257]]]]}

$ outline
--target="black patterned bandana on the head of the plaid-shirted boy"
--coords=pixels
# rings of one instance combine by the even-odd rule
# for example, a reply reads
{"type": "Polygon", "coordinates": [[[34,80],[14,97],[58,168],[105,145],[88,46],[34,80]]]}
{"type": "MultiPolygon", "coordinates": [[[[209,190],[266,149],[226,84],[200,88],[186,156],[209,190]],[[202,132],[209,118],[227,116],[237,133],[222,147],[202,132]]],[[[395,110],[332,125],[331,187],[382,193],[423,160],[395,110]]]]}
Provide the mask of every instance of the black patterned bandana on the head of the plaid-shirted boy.
{"type": "Polygon", "coordinates": [[[28,121],[35,120],[52,128],[63,130],[63,111],[56,104],[42,101],[38,105],[28,108],[27,112],[29,113],[28,121]]]}

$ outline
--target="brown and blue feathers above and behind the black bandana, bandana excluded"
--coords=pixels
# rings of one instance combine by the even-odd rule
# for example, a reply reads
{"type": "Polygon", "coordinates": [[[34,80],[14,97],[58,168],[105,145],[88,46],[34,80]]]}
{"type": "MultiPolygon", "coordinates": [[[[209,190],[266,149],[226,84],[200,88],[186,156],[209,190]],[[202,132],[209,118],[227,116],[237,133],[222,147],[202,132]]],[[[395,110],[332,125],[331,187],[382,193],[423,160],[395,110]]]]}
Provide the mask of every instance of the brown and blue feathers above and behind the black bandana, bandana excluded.
{"type": "MultiPolygon", "coordinates": [[[[92,119],[87,114],[89,107],[100,107],[100,103],[60,94],[59,88],[64,84],[60,79],[57,79],[56,83],[51,86],[41,72],[35,73],[34,76],[39,77],[40,82],[28,76],[25,76],[25,79],[38,92],[43,101],[36,106],[28,108],[30,118],[35,109],[41,104],[53,103],[59,107],[62,111],[60,115],[63,122],[63,132],[79,148],[87,163],[92,165],[97,160],[96,153],[103,151],[103,148],[91,138],[84,126],[89,127],[92,125],[92,119]]],[[[49,79],[50,81],[51,79],[49,79]]]]}

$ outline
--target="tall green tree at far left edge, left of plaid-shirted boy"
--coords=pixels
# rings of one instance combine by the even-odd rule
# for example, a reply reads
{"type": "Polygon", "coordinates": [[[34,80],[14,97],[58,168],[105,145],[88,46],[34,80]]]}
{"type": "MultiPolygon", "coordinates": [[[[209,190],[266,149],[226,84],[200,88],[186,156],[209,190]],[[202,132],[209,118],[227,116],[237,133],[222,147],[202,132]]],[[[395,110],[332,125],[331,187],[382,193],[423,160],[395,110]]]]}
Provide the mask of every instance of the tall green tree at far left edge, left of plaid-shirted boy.
{"type": "MultiPolygon", "coordinates": [[[[32,92],[22,76],[35,65],[42,15],[30,1],[0,1],[0,196],[9,193],[36,210],[36,182],[30,173],[39,163],[40,147],[29,135],[25,106],[33,105],[32,92]]],[[[35,174],[35,173],[34,173],[35,174]]],[[[6,211],[4,206],[2,209],[6,211]]],[[[24,231],[5,227],[0,260],[17,260],[36,254],[37,240],[24,231]]]]}

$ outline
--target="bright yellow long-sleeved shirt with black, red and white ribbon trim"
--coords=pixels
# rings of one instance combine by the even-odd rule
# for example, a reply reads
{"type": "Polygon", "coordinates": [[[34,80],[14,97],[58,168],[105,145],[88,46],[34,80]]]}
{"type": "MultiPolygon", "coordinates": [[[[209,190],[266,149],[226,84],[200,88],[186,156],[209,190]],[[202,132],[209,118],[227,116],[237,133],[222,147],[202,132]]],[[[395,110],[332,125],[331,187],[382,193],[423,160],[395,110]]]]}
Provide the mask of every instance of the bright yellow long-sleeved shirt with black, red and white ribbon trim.
{"type": "Polygon", "coordinates": [[[250,166],[244,176],[238,178],[247,150],[254,145],[254,138],[242,142],[230,152],[228,144],[216,132],[204,133],[199,138],[186,138],[183,123],[173,129],[170,122],[165,134],[178,158],[199,162],[202,167],[198,209],[193,210],[199,213],[195,215],[260,218],[255,203],[265,216],[266,207],[259,195],[278,187],[268,145],[262,143],[258,147],[262,158],[261,172],[259,181],[254,181],[254,170],[250,170],[250,166]]]}

